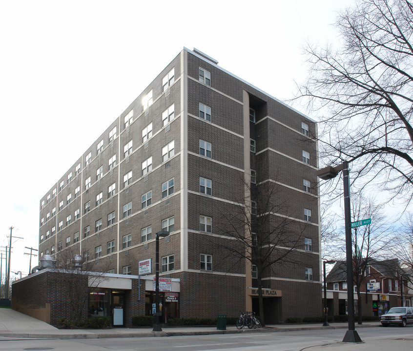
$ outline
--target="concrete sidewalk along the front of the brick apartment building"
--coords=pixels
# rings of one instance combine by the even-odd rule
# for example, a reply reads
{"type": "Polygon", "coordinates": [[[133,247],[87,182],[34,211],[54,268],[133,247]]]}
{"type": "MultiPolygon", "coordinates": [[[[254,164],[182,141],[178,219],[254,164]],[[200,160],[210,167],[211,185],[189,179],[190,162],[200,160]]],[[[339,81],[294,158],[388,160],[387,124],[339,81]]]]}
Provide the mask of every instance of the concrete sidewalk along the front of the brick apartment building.
{"type": "MultiPolygon", "coordinates": [[[[379,322],[367,322],[357,328],[377,327],[379,322]]],[[[244,328],[238,330],[235,326],[227,326],[227,330],[219,331],[211,327],[175,327],[163,328],[163,331],[152,331],[152,328],[112,328],[112,329],[57,329],[51,325],[30,317],[26,314],[11,310],[0,309],[0,338],[55,338],[55,339],[96,339],[118,337],[154,337],[173,335],[207,335],[246,332],[277,332],[298,330],[321,330],[347,328],[347,323],[331,323],[330,327],[320,324],[300,325],[271,325],[262,329],[244,328]]]]}

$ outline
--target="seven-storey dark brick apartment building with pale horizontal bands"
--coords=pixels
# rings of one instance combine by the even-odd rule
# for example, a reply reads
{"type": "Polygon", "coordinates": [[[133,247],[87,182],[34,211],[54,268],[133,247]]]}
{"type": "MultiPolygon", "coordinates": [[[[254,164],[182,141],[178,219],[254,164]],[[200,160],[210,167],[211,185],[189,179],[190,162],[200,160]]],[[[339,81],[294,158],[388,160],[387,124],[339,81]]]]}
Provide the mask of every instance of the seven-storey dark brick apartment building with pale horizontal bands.
{"type": "MultiPolygon", "coordinates": [[[[39,252],[69,248],[135,276],[146,261],[147,279],[165,230],[161,277],[179,281],[162,296],[168,316],[236,316],[256,309],[254,272],[220,249],[231,239],[214,224],[240,195],[248,204],[246,184],[276,182],[289,219],[305,224],[295,252],[306,255],[264,277],[266,321],[320,315],[315,135],[308,117],[184,48],[41,199],[39,252]]],[[[151,314],[152,285],[142,293],[151,314]]]]}

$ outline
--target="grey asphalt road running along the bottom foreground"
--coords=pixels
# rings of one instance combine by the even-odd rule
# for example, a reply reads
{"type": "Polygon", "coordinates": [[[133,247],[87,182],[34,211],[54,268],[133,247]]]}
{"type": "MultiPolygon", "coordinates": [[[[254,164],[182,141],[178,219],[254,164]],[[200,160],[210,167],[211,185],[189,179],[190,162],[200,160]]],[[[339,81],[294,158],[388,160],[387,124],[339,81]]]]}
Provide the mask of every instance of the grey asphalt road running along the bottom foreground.
{"type": "MultiPolygon", "coordinates": [[[[374,351],[391,350],[397,340],[411,340],[409,345],[413,348],[413,326],[377,327],[359,329],[358,334],[368,343],[375,342],[374,351]],[[378,343],[377,343],[378,342],[378,343]],[[377,346],[379,345],[379,346],[377,346]],[[380,347],[383,346],[383,348],[380,347]],[[390,348],[389,348],[390,345],[390,348]]],[[[312,331],[287,331],[248,334],[213,334],[195,336],[172,337],[140,337],[116,339],[31,339],[31,340],[1,340],[1,351],[293,351],[308,349],[311,346],[333,344],[325,347],[339,349],[336,343],[341,342],[345,330],[312,330],[312,331]]],[[[343,345],[343,344],[339,344],[343,345]]],[[[357,350],[357,345],[351,345],[351,350],[357,350]]],[[[397,347],[394,348],[395,350],[397,347]]]]}

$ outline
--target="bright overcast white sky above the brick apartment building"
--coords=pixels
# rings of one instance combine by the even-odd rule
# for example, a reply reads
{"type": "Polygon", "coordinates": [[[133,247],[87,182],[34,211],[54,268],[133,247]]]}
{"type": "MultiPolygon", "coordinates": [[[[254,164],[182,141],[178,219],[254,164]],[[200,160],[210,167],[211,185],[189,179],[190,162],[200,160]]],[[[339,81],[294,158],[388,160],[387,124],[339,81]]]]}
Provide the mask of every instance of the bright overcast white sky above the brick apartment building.
{"type": "Polygon", "coordinates": [[[307,74],[304,42],[334,42],[352,3],[0,0],[0,245],[10,226],[24,238],[11,270],[28,273],[41,196],[184,46],[285,101],[307,74]]]}

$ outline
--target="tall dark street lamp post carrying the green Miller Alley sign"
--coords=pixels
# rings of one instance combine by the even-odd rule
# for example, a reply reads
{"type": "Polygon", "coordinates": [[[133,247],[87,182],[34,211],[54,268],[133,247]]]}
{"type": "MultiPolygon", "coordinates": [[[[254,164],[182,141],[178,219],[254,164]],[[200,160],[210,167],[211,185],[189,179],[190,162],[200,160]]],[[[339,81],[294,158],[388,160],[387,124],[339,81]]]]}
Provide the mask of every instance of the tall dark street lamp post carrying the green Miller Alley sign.
{"type": "Polygon", "coordinates": [[[336,167],[325,167],[317,171],[317,176],[328,180],[336,177],[338,172],[343,172],[344,190],[344,225],[346,229],[346,261],[347,261],[347,309],[349,317],[349,329],[344,335],[343,342],[362,342],[354,326],[354,292],[353,292],[353,254],[351,247],[351,211],[350,211],[350,179],[349,162],[343,161],[336,167]]]}

